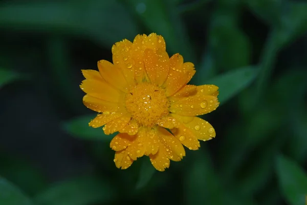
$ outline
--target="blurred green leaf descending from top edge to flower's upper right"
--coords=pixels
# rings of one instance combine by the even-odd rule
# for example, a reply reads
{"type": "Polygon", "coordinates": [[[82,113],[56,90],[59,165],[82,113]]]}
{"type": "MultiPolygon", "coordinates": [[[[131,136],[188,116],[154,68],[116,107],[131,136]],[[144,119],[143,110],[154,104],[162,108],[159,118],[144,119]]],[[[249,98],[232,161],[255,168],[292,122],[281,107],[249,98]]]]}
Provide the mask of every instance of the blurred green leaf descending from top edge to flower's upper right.
{"type": "Polygon", "coordinates": [[[125,1],[141,22],[150,30],[165,38],[169,55],[181,53],[185,61],[195,61],[180,12],[172,1],[131,0],[125,1]]]}

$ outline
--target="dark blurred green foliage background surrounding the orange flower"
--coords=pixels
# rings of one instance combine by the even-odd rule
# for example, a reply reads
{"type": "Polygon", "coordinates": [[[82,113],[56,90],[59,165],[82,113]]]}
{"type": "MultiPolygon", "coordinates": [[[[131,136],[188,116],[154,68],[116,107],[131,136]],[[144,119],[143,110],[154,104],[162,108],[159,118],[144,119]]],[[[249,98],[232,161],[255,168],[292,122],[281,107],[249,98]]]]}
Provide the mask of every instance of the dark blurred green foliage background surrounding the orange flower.
{"type": "Polygon", "coordinates": [[[307,2],[0,0],[0,204],[291,204],[307,195],[307,2]],[[216,137],[157,172],[115,167],[81,69],[156,32],[220,87],[216,137]]]}

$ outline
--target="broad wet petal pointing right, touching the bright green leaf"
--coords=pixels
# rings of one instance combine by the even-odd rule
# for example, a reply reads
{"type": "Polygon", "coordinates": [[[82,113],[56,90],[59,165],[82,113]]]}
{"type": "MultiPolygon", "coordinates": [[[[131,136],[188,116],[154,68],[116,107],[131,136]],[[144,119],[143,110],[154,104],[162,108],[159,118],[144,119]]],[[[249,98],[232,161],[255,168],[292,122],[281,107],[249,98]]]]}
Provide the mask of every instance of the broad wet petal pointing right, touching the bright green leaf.
{"type": "Polygon", "coordinates": [[[183,116],[203,115],[218,107],[217,91],[214,85],[197,87],[197,92],[188,97],[182,97],[170,105],[170,112],[183,116]]]}

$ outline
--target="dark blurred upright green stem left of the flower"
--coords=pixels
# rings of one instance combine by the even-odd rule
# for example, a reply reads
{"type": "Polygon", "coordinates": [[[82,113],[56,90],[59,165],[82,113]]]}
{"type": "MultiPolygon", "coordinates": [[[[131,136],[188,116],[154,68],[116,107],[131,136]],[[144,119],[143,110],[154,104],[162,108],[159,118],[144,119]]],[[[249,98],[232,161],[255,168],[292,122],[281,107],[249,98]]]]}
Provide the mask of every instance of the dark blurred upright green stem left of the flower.
{"type": "Polygon", "coordinates": [[[73,86],[73,74],[69,70],[67,45],[62,37],[52,36],[47,42],[47,48],[53,81],[56,87],[54,90],[69,104],[68,109],[78,112],[80,110],[78,104],[76,104],[76,101],[78,101],[76,89],[78,87],[77,85],[73,86]]]}

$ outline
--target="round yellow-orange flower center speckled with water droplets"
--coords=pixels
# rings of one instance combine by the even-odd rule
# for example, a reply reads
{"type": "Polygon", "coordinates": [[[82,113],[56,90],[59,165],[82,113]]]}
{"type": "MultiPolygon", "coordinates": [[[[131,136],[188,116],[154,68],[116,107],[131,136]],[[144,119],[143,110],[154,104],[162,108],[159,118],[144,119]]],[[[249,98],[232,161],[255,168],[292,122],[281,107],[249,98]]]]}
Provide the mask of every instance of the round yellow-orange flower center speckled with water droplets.
{"type": "Polygon", "coordinates": [[[152,127],[169,113],[164,90],[150,83],[141,83],[126,94],[126,108],[142,126],[152,127]]]}

